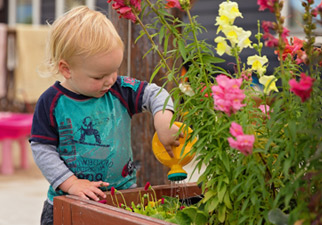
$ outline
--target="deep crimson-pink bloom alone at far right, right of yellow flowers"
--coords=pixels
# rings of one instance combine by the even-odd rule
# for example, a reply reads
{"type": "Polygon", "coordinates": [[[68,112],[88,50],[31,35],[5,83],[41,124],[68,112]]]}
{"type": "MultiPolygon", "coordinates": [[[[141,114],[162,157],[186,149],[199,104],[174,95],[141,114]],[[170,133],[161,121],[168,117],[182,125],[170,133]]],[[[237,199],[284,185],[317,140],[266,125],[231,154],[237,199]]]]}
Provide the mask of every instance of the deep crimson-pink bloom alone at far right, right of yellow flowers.
{"type": "Polygon", "coordinates": [[[301,80],[297,82],[295,79],[289,81],[291,91],[301,98],[302,102],[305,102],[311,95],[314,78],[307,76],[305,73],[301,73],[301,80]]]}

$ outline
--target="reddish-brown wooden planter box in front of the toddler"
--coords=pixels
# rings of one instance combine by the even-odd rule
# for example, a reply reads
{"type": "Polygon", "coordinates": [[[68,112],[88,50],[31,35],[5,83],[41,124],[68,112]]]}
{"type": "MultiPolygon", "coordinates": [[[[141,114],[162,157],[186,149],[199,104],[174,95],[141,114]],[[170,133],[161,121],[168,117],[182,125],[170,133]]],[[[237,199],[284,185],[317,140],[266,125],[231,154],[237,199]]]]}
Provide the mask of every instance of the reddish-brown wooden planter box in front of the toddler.
{"type": "MultiPolygon", "coordinates": [[[[158,199],[162,196],[179,196],[180,199],[193,197],[201,194],[201,189],[196,183],[188,183],[175,188],[170,185],[153,186],[158,199]]],[[[144,188],[135,188],[120,191],[127,205],[133,201],[139,203],[139,192],[141,195],[152,193],[144,188]]],[[[172,224],[159,219],[133,213],[125,209],[112,206],[110,192],[107,192],[107,204],[84,200],[76,196],[60,196],[54,198],[54,225],[157,225],[172,224]]],[[[120,194],[115,194],[120,203],[123,203],[120,194]]],[[[114,200],[115,201],[115,200],[114,200]]]]}

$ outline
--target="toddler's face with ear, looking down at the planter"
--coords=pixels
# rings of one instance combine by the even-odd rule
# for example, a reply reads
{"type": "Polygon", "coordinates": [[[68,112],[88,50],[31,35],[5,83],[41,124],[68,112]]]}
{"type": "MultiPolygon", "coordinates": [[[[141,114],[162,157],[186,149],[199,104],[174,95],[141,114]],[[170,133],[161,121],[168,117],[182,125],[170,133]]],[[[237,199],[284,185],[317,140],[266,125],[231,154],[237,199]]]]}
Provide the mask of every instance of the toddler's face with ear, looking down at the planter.
{"type": "Polygon", "coordinates": [[[123,51],[115,49],[108,54],[90,57],[74,57],[73,64],[60,67],[66,78],[62,85],[77,93],[100,98],[113,86],[117,79],[117,70],[123,60],[123,51]]]}

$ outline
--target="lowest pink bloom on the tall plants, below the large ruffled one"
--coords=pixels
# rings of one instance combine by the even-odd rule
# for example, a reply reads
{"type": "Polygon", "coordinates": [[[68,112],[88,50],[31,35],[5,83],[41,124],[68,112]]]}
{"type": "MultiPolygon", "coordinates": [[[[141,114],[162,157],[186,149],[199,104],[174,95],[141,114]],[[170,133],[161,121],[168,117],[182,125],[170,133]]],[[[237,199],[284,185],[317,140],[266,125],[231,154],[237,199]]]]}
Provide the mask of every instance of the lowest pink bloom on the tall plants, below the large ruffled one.
{"type": "Polygon", "coordinates": [[[245,156],[252,154],[253,145],[255,142],[254,135],[239,135],[236,137],[236,140],[233,138],[228,138],[230,147],[239,150],[245,156]]]}

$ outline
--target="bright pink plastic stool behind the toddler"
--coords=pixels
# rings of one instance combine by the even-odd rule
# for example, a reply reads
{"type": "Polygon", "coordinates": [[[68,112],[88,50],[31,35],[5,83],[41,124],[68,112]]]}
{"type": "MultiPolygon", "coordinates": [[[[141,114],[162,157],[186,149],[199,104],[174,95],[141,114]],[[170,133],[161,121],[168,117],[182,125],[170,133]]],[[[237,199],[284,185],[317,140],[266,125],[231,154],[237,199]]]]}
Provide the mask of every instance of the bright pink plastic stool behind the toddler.
{"type": "Polygon", "coordinates": [[[26,169],[29,166],[26,138],[30,135],[32,114],[0,112],[0,141],[2,142],[1,173],[12,174],[12,142],[20,145],[20,165],[26,169]]]}

